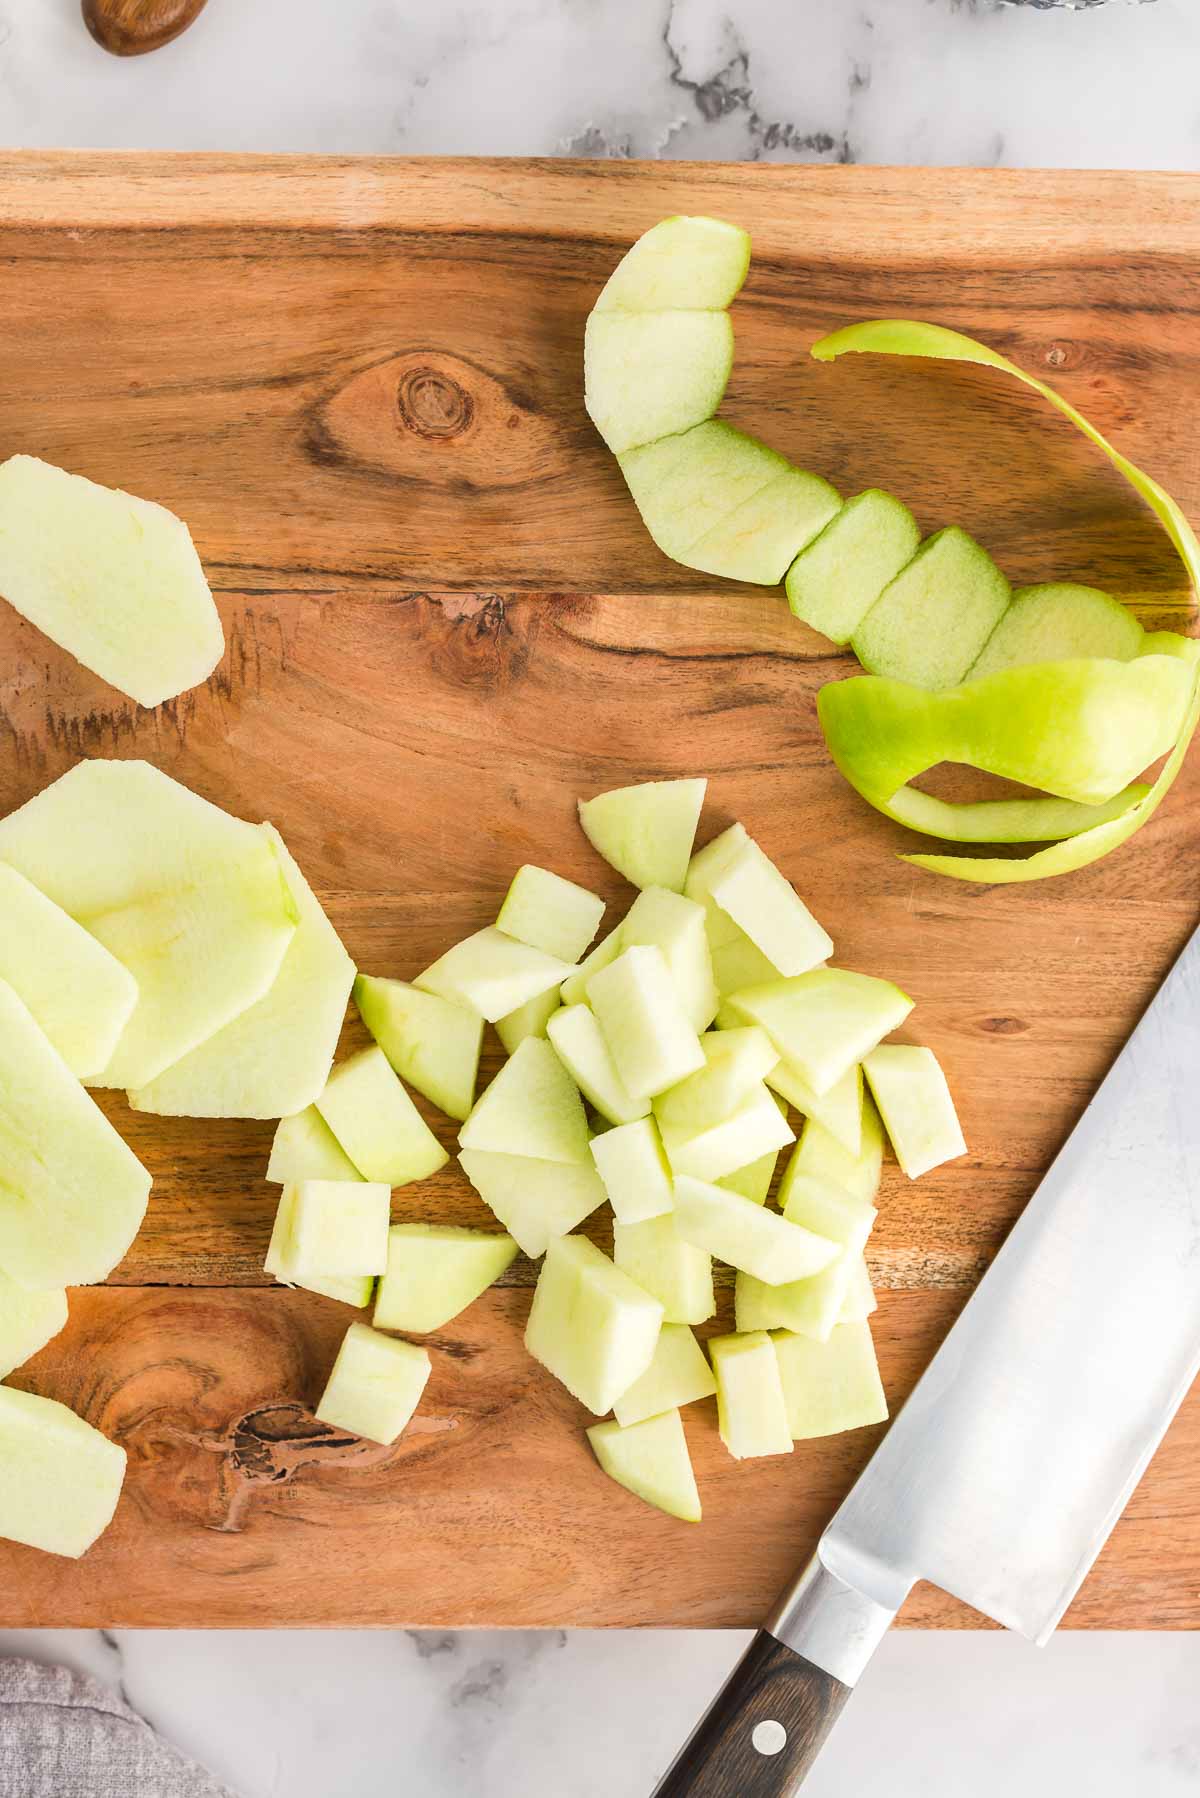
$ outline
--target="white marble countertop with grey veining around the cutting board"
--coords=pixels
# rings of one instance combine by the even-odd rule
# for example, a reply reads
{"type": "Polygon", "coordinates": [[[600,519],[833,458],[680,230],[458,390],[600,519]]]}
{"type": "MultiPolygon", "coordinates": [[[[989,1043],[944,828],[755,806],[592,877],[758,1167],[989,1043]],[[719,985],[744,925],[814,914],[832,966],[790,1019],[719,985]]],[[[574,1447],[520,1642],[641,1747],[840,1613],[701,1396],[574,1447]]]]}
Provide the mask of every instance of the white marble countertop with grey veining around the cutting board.
{"type": "MultiPolygon", "coordinates": [[[[9,146],[1200,167],[1195,0],[210,0],[121,63],[0,0],[9,146]]],[[[649,1793],[745,1638],[0,1633],[245,1798],[649,1793]]],[[[896,1634],[813,1798],[1182,1798],[1200,1636],[896,1634]]],[[[23,1794],[0,1793],[0,1798],[23,1794]]]]}

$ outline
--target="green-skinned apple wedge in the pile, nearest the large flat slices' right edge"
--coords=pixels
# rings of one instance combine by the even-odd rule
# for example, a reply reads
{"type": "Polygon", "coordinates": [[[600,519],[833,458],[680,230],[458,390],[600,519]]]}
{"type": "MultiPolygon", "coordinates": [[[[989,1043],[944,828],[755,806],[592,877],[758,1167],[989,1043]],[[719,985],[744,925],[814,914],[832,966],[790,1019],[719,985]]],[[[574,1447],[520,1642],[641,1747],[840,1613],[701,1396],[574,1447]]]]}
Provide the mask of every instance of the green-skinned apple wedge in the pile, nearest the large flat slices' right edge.
{"type": "MultiPolygon", "coordinates": [[[[484,1019],[407,980],[358,975],[354,1003],[401,1081],[459,1124],[475,1104],[484,1019]]],[[[538,1003],[538,1001],[531,1001],[538,1003]]]]}

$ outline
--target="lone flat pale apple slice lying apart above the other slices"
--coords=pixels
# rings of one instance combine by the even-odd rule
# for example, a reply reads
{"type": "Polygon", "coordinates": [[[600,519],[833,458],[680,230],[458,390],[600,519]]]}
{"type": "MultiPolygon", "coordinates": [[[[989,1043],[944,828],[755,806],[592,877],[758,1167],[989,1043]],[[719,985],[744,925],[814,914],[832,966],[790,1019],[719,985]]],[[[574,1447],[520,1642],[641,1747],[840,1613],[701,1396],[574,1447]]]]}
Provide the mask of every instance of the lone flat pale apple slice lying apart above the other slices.
{"type": "Polygon", "coordinates": [[[0,593],[139,705],[198,687],[225,653],[184,520],[32,455],[0,464],[0,593]]]}

